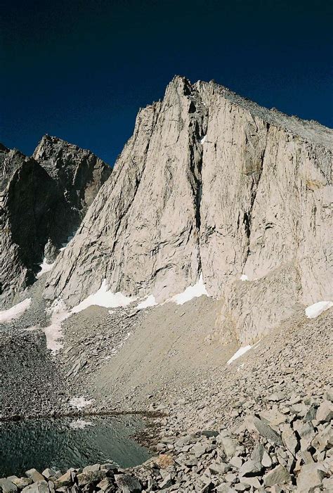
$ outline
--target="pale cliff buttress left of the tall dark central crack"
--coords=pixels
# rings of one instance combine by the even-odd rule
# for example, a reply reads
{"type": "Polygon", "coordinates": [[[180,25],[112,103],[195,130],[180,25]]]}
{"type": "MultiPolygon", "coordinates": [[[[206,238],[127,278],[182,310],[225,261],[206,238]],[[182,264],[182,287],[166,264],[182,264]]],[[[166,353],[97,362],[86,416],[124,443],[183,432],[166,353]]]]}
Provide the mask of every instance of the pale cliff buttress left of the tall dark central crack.
{"type": "Polygon", "coordinates": [[[76,304],[106,278],[113,291],[163,300],[195,283],[206,125],[199,94],[181,78],[169,85],[162,103],[141,110],[112,177],[72,248],[62,252],[48,295],[62,293],[76,304]]]}

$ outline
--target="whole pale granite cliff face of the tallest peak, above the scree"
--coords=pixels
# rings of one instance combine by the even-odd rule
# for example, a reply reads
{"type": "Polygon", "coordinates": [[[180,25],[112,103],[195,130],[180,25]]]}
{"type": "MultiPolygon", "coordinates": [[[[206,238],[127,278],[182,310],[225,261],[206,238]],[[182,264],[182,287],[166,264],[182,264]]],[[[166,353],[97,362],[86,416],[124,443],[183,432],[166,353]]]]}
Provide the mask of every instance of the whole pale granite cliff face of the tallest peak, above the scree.
{"type": "Polygon", "coordinates": [[[162,301],[202,273],[225,303],[220,325],[236,333],[228,311],[238,290],[250,306],[267,279],[269,303],[281,271],[292,307],[325,299],[331,159],[332,131],[320,124],[176,77],[162,103],[138,114],[46,297],[75,305],[106,278],[113,292],[162,301]]]}

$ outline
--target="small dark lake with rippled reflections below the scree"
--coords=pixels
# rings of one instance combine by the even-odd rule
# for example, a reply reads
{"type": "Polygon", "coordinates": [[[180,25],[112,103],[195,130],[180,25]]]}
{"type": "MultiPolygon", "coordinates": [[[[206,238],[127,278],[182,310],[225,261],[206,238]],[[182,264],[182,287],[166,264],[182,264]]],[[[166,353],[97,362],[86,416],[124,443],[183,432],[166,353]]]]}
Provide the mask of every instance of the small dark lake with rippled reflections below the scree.
{"type": "Polygon", "coordinates": [[[131,435],[143,429],[138,416],[84,416],[0,423],[0,478],[79,468],[93,463],[137,466],[151,456],[131,435]],[[88,425],[86,423],[89,423],[88,425]]]}

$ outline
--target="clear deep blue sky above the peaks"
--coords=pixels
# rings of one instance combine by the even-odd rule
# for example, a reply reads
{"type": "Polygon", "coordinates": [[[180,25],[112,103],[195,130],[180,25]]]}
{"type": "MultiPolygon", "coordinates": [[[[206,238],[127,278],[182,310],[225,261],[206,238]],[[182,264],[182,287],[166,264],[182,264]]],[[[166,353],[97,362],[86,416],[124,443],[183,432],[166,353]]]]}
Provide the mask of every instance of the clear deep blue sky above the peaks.
{"type": "Polygon", "coordinates": [[[0,141],[112,165],[175,74],[333,127],[332,21],[328,0],[3,0],[0,141]]]}

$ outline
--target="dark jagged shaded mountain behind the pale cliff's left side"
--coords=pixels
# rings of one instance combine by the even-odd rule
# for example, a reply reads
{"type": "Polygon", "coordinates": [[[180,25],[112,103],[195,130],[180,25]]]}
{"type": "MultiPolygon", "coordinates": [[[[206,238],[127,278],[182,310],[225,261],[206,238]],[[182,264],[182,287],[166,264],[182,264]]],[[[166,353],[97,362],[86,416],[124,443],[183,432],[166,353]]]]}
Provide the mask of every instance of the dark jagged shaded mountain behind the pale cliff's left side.
{"type": "Polygon", "coordinates": [[[44,136],[34,158],[0,147],[0,302],[53,262],[111,169],[90,151],[44,136]],[[67,187],[67,188],[66,188],[67,187]]]}

